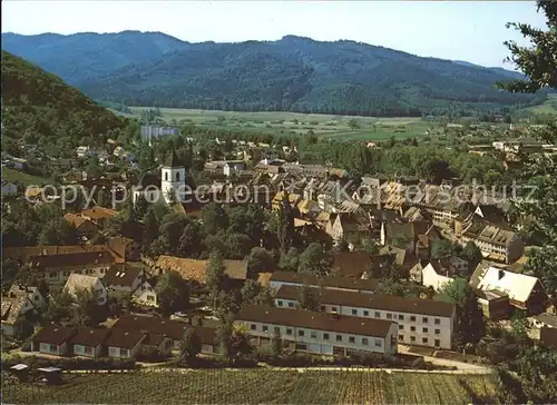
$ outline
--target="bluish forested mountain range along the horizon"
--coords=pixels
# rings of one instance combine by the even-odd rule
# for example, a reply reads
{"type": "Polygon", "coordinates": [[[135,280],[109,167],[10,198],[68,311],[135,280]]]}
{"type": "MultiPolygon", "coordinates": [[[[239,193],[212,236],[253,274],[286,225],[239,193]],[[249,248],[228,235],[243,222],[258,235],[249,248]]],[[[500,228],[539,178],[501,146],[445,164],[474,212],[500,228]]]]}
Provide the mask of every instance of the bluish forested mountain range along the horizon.
{"type": "Polygon", "coordinates": [[[495,88],[512,72],[354,41],[189,43],[137,31],[2,40],[87,95],[130,106],[418,116],[543,101],[495,88]]]}

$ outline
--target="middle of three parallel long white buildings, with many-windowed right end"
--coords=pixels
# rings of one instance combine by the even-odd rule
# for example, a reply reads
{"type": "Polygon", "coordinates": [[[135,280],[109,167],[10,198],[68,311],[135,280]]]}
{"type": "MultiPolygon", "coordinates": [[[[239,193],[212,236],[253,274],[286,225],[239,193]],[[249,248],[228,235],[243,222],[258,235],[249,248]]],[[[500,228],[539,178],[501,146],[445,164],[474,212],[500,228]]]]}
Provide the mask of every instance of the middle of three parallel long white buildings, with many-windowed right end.
{"type": "MultiPolygon", "coordinates": [[[[324,313],[395,322],[399,343],[446,349],[452,346],[453,304],[338,289],[320,289],[316,295],[324,313]]],[[[299,297],[299,287],[282,286],[274,297],[275,305],[294,308],[299,297]]]]}

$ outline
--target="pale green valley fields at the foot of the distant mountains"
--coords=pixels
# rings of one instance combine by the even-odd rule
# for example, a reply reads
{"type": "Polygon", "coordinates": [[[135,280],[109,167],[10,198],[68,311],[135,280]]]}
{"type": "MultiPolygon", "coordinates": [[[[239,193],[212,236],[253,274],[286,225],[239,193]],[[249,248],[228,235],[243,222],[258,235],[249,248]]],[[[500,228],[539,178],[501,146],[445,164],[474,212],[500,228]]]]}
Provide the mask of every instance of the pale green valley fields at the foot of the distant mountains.
{"type": "MultiPolygon", "coordinates": [[[[136,117],[149,107],[130,107],[136,117]]],[[[265,134],[307,134],[342,139],[388,139],[423,136],[436,125],[420,118],[372,118],[299,112],[235,112],[160,108],[162,119],[186,121],[196,126],[265,134]],[[349,122],[355,120],[358,128],[349,122]]]]}

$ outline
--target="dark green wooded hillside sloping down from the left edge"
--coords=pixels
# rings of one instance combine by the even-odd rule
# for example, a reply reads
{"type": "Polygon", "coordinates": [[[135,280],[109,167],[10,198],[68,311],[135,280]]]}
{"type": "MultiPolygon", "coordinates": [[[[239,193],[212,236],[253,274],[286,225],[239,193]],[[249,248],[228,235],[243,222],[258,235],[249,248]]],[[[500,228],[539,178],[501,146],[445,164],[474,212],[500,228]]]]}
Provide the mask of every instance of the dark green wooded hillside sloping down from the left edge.
{"type": "Polygon", "coordinates": [[[126,121],[52,73],[2,51],[2,150],[18,141],[67,149],[126,121]]]}

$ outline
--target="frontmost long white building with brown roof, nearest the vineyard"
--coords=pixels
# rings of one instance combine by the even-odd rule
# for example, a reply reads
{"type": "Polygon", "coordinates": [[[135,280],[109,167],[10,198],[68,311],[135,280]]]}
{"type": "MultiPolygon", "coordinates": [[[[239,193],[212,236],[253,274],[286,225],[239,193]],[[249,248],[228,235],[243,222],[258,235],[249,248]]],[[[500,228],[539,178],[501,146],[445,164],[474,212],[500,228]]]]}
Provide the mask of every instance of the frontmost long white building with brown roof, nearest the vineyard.
{"type": "Polygon", "coordinates": [[[270,345],[280,334],[286,346],[315,354],[397,353],[397,324],[390,320],[251,305],[235,324],[256,345],[270,345]]]}

